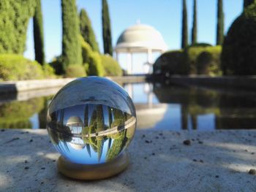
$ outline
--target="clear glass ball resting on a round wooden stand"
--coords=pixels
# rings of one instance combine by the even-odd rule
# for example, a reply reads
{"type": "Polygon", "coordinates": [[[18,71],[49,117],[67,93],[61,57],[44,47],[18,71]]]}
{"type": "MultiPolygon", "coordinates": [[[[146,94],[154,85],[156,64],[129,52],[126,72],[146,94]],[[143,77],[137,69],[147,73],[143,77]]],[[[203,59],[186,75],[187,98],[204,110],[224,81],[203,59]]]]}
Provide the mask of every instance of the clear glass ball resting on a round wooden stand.
{"type": "Polygon", "coordinates": [[[64,158],[77,164],[102,164],[131,142],[136,112],[132,99],[116,82],[83,77],[56,93],[47,121],[50,140],[64,158]]]}

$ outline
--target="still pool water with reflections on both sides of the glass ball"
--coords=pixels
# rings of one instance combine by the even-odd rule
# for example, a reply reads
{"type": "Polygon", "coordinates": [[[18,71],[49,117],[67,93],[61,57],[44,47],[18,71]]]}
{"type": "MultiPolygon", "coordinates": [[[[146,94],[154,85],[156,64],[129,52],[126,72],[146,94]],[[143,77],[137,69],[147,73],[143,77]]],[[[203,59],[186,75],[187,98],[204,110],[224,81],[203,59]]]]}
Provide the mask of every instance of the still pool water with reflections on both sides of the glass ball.
{"type": "MultiPolygon", "coordinates": [[[[256,128],[255,92],[148,82],[121,85],[134,101],[137,127],[141,129],[256,128]]],[[[57,91],[1,95],[0,128],[46,128],[47,107],[57,91]]]]}

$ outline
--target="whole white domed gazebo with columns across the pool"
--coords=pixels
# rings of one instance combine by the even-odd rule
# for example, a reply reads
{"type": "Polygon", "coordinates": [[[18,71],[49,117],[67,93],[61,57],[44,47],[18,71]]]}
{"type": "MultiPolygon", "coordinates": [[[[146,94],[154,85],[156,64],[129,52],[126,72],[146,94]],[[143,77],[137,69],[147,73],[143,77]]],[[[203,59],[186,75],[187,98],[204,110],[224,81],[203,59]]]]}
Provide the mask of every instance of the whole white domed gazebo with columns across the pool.
{"type": "Polygon", "coordinates": [[[165,50],[167,45],[159,31],[152,26],[140,23],[124,30],[115,47],[117,61],[119,53],[127,53],[128,74],[132,74],[132,53],[147,53],[146,64],[152,68],[152,53],[163,53],[165,50]]]}

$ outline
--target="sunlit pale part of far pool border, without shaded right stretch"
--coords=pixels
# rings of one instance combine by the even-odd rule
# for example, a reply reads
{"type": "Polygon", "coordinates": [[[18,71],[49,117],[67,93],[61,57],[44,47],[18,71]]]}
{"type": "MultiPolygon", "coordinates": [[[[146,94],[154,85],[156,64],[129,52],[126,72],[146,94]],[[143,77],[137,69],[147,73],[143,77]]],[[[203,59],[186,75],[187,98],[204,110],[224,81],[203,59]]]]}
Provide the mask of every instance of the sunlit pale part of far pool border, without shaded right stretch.
{"type": "MultiPolygon", "coordinates": [[[[107,78],[114,80],[116,82],[143,82],[144,80],[146,80],[146,75],[107,78]]],[[[0,82],[0,93],[14,93],[20,91],[31,91],[45,88],[62,87],[72,80],[75,80],[75,78],[0,82]]]]}

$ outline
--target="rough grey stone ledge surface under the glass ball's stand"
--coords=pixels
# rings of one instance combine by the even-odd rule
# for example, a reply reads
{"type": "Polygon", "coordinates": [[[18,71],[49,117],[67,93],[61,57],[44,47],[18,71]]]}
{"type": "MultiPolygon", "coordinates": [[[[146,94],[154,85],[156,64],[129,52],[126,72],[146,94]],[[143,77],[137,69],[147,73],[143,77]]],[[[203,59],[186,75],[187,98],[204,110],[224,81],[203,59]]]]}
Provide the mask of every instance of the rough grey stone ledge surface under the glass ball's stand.
{"type": "Polygon", "coordinates": [[[0,191],[256,191],[256,131],[138,130],[127,170],[94,182],[58,174],[46,130],[0,130],[0,154],[0,191]]]}

